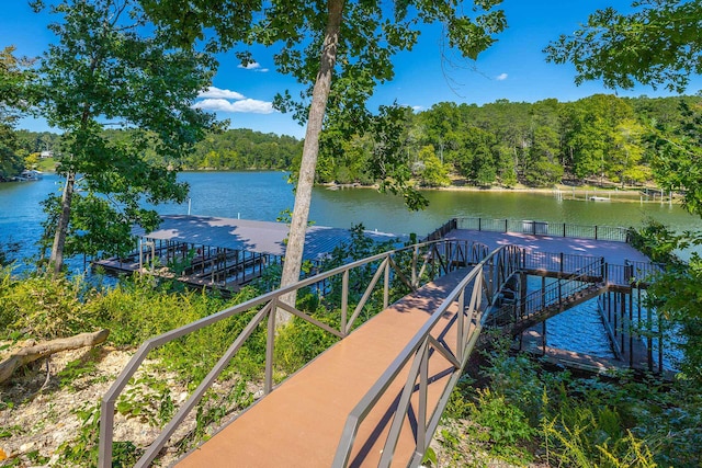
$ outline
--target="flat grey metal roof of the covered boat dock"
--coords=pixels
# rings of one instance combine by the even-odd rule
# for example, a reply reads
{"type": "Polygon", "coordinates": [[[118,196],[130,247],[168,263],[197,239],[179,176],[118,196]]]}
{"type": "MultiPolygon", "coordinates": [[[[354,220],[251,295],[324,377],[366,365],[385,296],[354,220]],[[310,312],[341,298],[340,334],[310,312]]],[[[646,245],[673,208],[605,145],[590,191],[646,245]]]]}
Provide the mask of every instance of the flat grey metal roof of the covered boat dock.
{"type": "MultiPolygon", "coordinates": [[[[285,254],[285,239],[290,228],[283,222],[190,215],[165,215],[161,219],[161,225],[155,231],[146,232],[141,228],[135,228],[133,233],[152,240],[246,250],[279,256],[285,254]]],[[[386,232],[366,233],[377,242],[399,238],[386,232]]],[[[310,226],[305,236],[303,258],[318,260],[350,239],[351,232],[348,229],[310,226]]]]}

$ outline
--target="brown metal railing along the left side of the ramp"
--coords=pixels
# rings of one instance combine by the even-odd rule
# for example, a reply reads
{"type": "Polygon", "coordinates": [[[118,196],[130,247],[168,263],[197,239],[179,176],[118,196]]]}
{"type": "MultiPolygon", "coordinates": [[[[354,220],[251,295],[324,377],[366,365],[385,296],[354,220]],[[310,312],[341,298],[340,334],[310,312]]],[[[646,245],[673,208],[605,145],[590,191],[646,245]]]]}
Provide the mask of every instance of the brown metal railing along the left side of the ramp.
{"type": "MultiPolygon", "coordinates": [[[[390,299],[390,285],[400,283],[408,290],[416,290],[422,284],[431,282],[435,277],[457,269],[478,263],[487,255],[487,247],[471,241],[432,241],[421,244],[411,246],[390,252],[381,253],[367,259],[363,259],[348,265],[339,266],[325,273],[320,273],[314,277],[301,281],[292,286],[280,288],[278,290],[264,294],[254,299],[248,300],[235,307],[222,310],[212,316],[200,319],[195,322],[163,333],[159,336],[146,341],[132,357],[124,370],[120,374],[115,383],[105,393],[101,404],[100,419],[100,442],[99,442],[99,467],[107,468],[112,466],[112,450],[114,436],[114,414],[115,402],[122,391],[127,386],[129,379],[137,372],[141,363],[148,354],[173,340],[182,338],[189,333],[193,333],[205,327],[217,323],[230,317],[241,315],[248,311],[257,311],[253,318],[245,326],[244,330],[233,341],[224,355],[215,364],[212,370],[205,376],[202,383],[193,391],[190,398],[180,407],[173,419],[166,424],[161,433],[147,447],[141,458],[137,461],[137,467],[148,466],[166,445],[168,440],[176,432],[178,426],[185,420],[189,413],[196,407],[208,388],[215,383],[219,374],[226,368],[231,358],[242,347],[245,342],[253,331],[268,320],[268,339],[265,351],[265,369],[263,391],[265,395],[273,389],[273,351],[274,351],[274,331],[276,324],[276,311],[283,309],[301,319],[313,323],[327,332],[343,339],[347,336],[360,320],[361,312],[369,305],[376,286],[382,284],[382,308],[388,307],[390,299]],[[360,286],[359,290],[353,290],[351,273],[356,269],[374,269],[372,279],[367,285],[360,286]],[[409,270],[409,271],[407,271],[409,270]],[[332,281],[333,279],[333,281],[332,281]],[[339,329],[335,329],[321,321],[297,310],[296,308],[284,304],[281,298],[286,294],[297,292],[304,287],[313,287],[319,292],[328,290],[329,285],[340,287],[340,312],[341,319],[339,329]],[[358,304],[353,307],[351,296],[360,297],[358,304]]],[[[494,254],[495,256],[495,254],[494,254]]],[[[492,256],[492,258],[494,258],[492,256]]],[[[502,263],[505,263],[502,261],[502,263]]],[[[491,279],[490,282],[491,283],[491,279]]],[[[380,311],[377,310],[377,311],[380,311]]]]}

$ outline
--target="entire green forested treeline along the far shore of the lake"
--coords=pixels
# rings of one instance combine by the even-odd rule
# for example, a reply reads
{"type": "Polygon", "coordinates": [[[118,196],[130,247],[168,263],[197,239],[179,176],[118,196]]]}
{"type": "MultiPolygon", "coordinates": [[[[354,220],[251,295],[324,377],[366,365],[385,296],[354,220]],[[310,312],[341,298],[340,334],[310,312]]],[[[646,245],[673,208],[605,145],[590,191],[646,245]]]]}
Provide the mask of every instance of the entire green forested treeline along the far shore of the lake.
{"type": "MultiPolygon", "coordinates": [[[[551,186],[563,181],[624,186],[650,182],[668,171],[665,160],[671,145],[701,140],[697,134],[702,96],[596,94],[575,102],[500,100],[482,106],[443,102],[420,113],[407,109],[401,115],[398,152],[421,186],[551,186]]],[[[105,135],[118,140],[125,132],[105,135]]],[[[197,144],[180,169],[294,172],[302,145],[291,136],[228,129],[197,144]]],[[[378,136],[371,133],[341,137],[327,132],[317,182],[377,182],[371,170],[377,147],[378,136]]],[[[58,135],[16,132],[15,153],[25,158],[27,168],[47,150],[60,157],[58,135]]]]}

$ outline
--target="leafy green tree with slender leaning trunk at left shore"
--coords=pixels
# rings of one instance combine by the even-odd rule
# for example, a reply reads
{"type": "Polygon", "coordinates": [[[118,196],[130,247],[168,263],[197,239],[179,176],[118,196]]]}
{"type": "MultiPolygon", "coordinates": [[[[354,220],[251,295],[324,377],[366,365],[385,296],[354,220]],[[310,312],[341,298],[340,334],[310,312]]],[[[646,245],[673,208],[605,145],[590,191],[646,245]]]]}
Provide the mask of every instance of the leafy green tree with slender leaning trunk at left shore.
{"type": "Polygon", "coordinates": [[[136,0],[61,0],[50,12],[63,19],[49,25],[58,42],[42,57],[34,85],[37,106],[65,132],[63,195],[45,205],[49,262],[58,273],[66,254],[133,248],[135,222],[146,229],[159,222],[140,202],[185,199],[188,186],[171,169],[212,126],[212,116],[191,104],[214,64],[207,54],[169,48],[136,0]],[[113,140],[106,126],[129,132],[113,140]],[[149,148],[158,158],[148,157],[149,148]]]}

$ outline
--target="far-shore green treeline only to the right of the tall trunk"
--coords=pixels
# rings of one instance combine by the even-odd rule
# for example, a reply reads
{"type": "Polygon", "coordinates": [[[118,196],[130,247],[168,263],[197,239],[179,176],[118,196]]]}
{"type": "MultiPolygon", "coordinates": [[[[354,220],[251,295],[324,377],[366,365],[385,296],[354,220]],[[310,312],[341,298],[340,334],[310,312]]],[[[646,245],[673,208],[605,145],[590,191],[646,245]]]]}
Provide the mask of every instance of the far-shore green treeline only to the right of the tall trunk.
{"type": "MultiPolygon", "coordinates": [[[[700,122],[700,95],[596,94],[567,103],[500,100],[482,106],[443,102],[406,113],[404,149],[424,186],[551,186],[563,180],[636,185],[666,171],[661,155],[671,141],[699,141],[700,122]]],[[[322,152],[320,181],[369,182],[373,139],[358,136],[344,148],[322,152]]]]}

